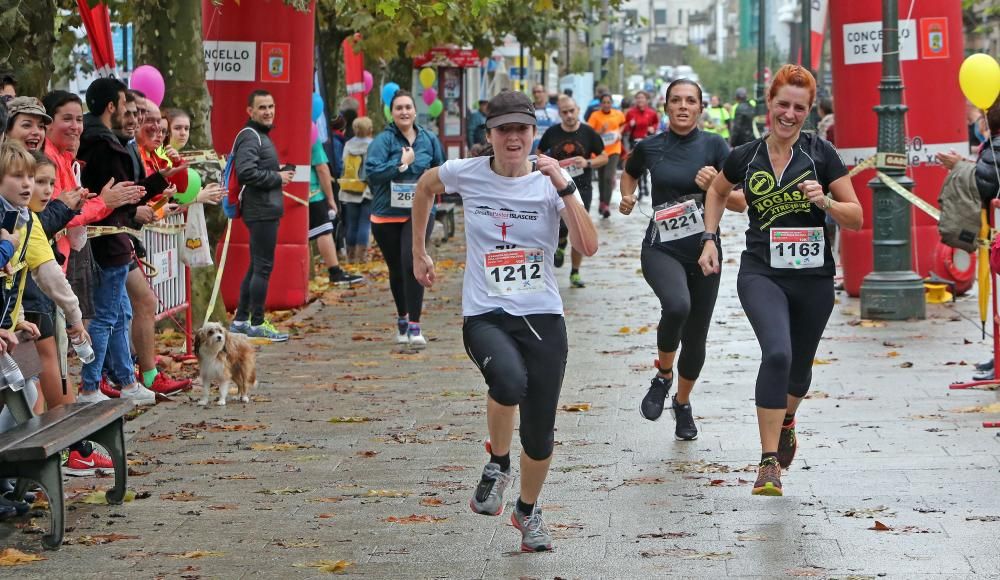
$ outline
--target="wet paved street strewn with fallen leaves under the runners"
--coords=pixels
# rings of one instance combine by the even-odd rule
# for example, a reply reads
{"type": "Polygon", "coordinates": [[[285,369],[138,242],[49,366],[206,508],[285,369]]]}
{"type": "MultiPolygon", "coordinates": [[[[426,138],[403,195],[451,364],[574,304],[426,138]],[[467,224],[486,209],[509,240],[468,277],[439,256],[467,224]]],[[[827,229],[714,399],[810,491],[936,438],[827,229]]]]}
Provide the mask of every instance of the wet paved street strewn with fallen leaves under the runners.
{"type": "MultiPolygon", "coordinates": [[[[752,497],[759,350],[734,259],[745,221],[726,219],[693,398],[701,436],[686,443],[669,414],[638,413],[659,318],[639,273],[644,223],[638,213],[598,223],[587,288],[569,289],[568,264],[557,271],[570,336],[562,404],[586,410],[557,421],[540,502],[554,552],[516,551],[516,493],[501,518],[468,508],[488,456],[485,388],[461,344],[459,237],[438,251],[425,351],[394,344],[384,275],[328,292],[290,342],[260,350],[252,404],[182,397],[129,424],[130,487],[148,497],[77,501],[69,545],[0,576],[299,578],[327,576],[325,563],[370,578],[1000,577],[1000,438],[979,426],[997,415],[974,412],[995,412],[997,394],[947,388],[988,356],[975,298],[929,307],[926,321],[872,325],[840,295],[786,495],[752,497]],[[115,541],[88,545],[102,539],[115,541]]],[[[82,499],[95,484],[109,481],[68,490],[82,499]]],[[[10,523],[0,545],[41,552],[10,523]]]]}

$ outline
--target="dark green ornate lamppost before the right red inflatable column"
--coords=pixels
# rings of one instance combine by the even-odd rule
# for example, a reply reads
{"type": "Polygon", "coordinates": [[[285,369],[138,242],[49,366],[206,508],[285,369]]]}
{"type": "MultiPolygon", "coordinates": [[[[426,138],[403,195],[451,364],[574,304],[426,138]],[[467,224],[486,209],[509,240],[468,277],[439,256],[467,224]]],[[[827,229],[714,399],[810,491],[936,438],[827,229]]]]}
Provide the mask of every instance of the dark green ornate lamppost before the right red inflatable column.
{"type": "MultiPolygon", "coordinates": [[[[899,76],[898,0],[882,0],[882,81],[879,84],[876,167],[907,190],[906,128],[903,82],[899,76]]],[[[872,190],[874,270],[861,283],[861,317],[881,320],[927,316],[923,280],[913,271],[910,249],[910,204],[878,177],[872,190]]]]}

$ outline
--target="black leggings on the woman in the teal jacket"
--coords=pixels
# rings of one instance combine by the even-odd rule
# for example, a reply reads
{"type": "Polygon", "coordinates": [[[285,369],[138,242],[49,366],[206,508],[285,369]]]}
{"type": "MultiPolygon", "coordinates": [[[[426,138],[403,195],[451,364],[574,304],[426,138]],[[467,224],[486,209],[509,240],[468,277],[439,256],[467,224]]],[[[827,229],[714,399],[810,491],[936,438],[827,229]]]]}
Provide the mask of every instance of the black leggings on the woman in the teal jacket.
{"type": "MultiPolygon", "coordinates": [[[[427,220],[427,236],[434,228],[434,219],[427,220]]],[[[372,234],[385,264],[389,267],[389,289],[396,303],[396,314],[410,315],[410,322],[420,322],[424,309],[424,287],[413,275],[413,220],[403,223],[372,223],[372,234]]]]}

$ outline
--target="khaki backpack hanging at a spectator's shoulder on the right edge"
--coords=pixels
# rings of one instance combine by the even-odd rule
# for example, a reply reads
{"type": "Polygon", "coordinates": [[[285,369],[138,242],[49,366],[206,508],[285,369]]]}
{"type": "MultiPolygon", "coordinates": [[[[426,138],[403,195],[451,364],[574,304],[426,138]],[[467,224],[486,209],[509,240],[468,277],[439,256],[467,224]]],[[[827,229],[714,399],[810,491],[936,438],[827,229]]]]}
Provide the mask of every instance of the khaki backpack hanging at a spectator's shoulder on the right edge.
{"type": "Polygon", "coordinates": [[[974,253],[983,205],[976,189],[973,164],[960,162],[948,172],[938,196],[938,206],[941,208],[941,220],[938,221],[941,241],[952,248],[974,253]]]}

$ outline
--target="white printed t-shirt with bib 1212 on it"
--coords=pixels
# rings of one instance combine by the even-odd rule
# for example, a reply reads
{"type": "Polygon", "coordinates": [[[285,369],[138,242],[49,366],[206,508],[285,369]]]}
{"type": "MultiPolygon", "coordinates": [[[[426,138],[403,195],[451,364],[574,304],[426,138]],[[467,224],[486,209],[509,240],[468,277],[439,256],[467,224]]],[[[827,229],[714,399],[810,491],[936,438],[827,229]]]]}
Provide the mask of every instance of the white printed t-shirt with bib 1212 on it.
{"type": "Polygon", "coordinates": [[[552,258],[566,204],[549,178],[497,175],[489,157],[448,161],[438,177],[465,209],[462,314],[562,314],[552,258]]]}

